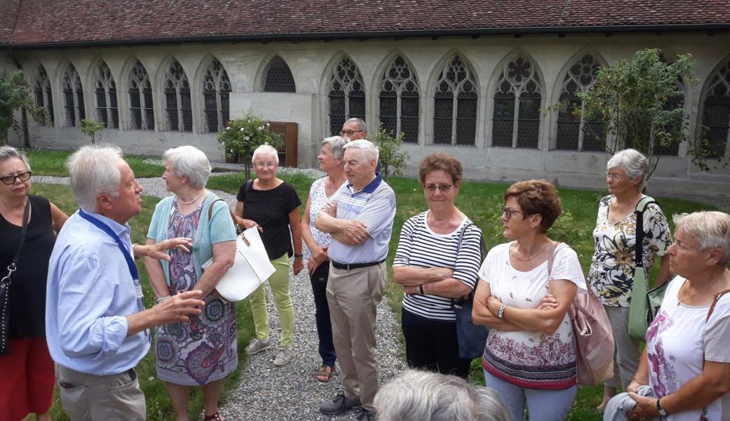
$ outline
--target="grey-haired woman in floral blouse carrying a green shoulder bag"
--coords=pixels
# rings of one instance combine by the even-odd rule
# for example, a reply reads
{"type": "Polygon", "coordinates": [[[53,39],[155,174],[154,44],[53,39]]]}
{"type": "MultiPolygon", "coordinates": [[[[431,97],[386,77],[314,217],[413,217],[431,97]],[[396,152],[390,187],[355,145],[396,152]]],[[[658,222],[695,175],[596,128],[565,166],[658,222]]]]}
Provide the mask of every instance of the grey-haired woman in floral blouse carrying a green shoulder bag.
{"type": "MultiPolygon", "coordinates": [[[[624,390],[639,364],[639,343],[629,339],[629,303],[634,285],[634,252],[636,247],[637,203],[645,195],[649,163],[637,150],[617,152],[607,163],[606,184],[608,196],[599,202],[596,229],[593,230],[596,250],[591,260],[588,280],[593,293],[602,301],[608,314],[616,342],[615,374],[604,384],[603,402],[616,394],[616,387],[624,390]]],[[[657,256],[663,256],[672,245],[669,224],[657,204],[648,204],[644,210],[644,268],[646,279],[657,256]]],[[[669,259],[661,259],[659,276],[654,286],[669,279],[669,259]]]]}

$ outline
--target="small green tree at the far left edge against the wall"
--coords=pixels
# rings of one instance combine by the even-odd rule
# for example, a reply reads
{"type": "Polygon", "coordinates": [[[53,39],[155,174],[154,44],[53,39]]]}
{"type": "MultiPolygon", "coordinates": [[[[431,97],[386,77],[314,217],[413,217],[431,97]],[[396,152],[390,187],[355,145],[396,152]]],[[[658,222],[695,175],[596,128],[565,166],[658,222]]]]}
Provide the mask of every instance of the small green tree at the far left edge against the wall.
{"type": "Polygon", "coordinates": [[[20,122],[15,120],[18,109],[28,110],[35,120],[47,117],[46,109],[33,103],[28,82],[23,79],[20,70],[13,72],[7,79],[0,79],[0,144],[7,144],[8,129],[12,128],[18,134],[23,131],[20,122]]]}

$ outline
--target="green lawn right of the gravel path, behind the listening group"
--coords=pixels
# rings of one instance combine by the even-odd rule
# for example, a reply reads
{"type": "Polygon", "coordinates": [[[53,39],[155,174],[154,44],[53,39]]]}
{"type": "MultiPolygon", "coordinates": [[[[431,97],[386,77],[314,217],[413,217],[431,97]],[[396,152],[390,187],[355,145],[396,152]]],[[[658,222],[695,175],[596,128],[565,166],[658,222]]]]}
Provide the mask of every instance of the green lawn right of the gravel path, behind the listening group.
{"type": "MultiPolygon", "coordinates": [[[[224,190],[231,194],[238,192],[239,185],[243,180],[241,174],[230,174],[220,177],[212,177],[208,182],[208,188],[224,190]]],[[[296,187],[302,203],[309,196],[309,189],[312,179],[303,176],[281,177],[291,182],[296,187]]],[[[423,191],[418,185],[418,180],[404,177],[393,177],[388,181],[396,193],[398,205],[396,220],[393,223],[393,236],[391,237],[391,252],[388,254],[388,262],[393,262],[393,254],[398,245],[398,238],[401,226],[409,217],[426,210],[426,201],[423,198],[423,191]]],[[[469,216],[480,228],[485,236],[488,247],[505,242],[502,237],[502,222],[499,220],[500,207],[502,206],[502,195],[509,185],[506,183],[485,183],[466,181],[461,185],[461,190],[456,198],[456,206],[469,216]]],[[[558,218],[556,225],[550,230],[553,239],[570,244],[579,255],[581,266],[588,271],[593,255],[593,228],[596,226],[596,212],[598,211],[599,199],[607,193],[605,190],[575,190],[569,188],[558,188],[561,194],[564,214],[558,218]]],[[[691,201],[677,200],[674,198],[656,197],[659,206],[665,215],[673,215],[680,212],[694,212],[701,209],[715,209],[713,206],[699,204],[691,201]]],[[[304,206],[301,206],[303,212],[304,206]]],[[[669,218],[669,225],[674,231],[674,224],[669,218]]],[[[658,265],[654,267],[656,271],[658,265]]],[[[391,307],[400,320],[401,296],[403,290],[400,285],[392,281],[392,274],[388,274],[388,285],[385,294],[391,299],[391,307]]],[[[402,339],[402,333],[401,333],[402,339]]],[[[402,341],[401,341],[402,343],[402,341]]],[[[404,352],[403,352],[404,353],[404,352]]],[[[476,384],[484,384],[484,375],[480,359],[472,361],[472,370],[469,379],[476,384]]],[[[568,420],[572,421],[600,421],[602,415],[594,411],[599,403],[603,389],[601,386],[581,387],[576,401],[575,409],[569,414],[568,420]]]]}

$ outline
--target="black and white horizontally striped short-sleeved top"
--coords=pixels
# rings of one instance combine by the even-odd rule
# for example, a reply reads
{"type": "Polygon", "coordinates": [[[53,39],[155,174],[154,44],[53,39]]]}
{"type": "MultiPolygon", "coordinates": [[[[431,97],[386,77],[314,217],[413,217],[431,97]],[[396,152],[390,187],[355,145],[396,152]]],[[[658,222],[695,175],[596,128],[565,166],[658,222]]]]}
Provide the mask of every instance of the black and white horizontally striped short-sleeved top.
{"type": "MultiPolygon", "coordinates": [[[[403,224],[398,250],[393,266],[416,266],[420,268],[453,269],[453,278],[469,287],[477,284],[477,271],[481,266],[481,230],[469,226],[457,250],[458,238],[464,226],[472,221],[468,217],[452,233],[434,233],[426,223],[429,211],[411,217],[403,224]],[[458,251],[458,253],[457,253],[458,251]]],[[[454,321],[451,298],[430,294],[404,294],[403,308],[420,317],[431,320],[454,321]]]]}

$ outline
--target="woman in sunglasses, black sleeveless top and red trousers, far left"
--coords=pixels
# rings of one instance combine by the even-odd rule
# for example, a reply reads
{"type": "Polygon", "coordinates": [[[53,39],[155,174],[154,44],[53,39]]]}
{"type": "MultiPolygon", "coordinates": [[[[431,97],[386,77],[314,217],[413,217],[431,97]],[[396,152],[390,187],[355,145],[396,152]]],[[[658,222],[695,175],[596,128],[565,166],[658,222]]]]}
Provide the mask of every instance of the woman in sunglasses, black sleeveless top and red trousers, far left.
{"type": "Polygon", "coordinates": [[[61,231],[68,217],[29,190],[31,166],[26,155],[15,147],[0,147],[0,279],[10,278],[9,354],[0,355],[0,420],[23,420],[30,412],[38,420],[50,420],[53,403],[53,360],[45,340],[46,278],[53,231],[61,231]],[[28,225],[25,240],[16,270],[9,274],[23,220],[28,225]]]}

